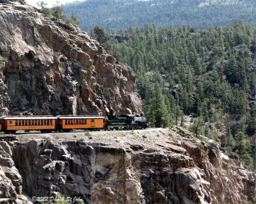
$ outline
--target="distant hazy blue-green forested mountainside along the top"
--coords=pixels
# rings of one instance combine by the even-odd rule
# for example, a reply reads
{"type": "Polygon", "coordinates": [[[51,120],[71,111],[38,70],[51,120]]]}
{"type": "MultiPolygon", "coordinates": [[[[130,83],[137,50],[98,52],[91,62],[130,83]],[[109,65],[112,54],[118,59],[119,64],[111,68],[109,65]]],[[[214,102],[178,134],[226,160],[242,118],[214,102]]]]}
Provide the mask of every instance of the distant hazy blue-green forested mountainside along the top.
{"type": "Polygon", "coordinates": [[[65,4],[63,10],[66,15],[75,13],[87,31],[95,26],[118,31],[147,22],[162,28],[190,24],[198,29],[225,26],[236,19],[255,24],[254,0],[88,0],[65,4]]]}

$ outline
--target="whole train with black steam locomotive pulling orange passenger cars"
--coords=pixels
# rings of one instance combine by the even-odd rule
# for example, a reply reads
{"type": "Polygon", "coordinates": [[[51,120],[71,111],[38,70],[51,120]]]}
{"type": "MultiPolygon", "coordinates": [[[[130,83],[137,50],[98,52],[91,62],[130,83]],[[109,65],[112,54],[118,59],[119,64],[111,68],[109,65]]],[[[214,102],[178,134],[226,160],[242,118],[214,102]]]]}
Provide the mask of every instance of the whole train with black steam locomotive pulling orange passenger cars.
{"type": "Polygon", "coordinates": [[[72,129],[113,130],[142,129],[148,127],[145,117],[139,115],[109,116],[1,116],[0,131],[15,134],[17,130],[40,130],[41,132],[70,132],[72,129]]]}

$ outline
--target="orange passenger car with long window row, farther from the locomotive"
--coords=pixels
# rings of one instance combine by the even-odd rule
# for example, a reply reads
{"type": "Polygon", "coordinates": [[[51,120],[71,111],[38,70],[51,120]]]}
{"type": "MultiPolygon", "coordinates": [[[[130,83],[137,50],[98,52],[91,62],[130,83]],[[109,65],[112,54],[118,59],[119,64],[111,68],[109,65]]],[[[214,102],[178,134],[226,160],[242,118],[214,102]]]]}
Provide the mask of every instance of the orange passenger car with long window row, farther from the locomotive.
{"type": "Polygon", "coordinates": [[[51,132],[55,129],[57,119],[54,116],[2,116],[1,118],[2,131],[6,134],[14,134],[16,130],[51,132]]]}

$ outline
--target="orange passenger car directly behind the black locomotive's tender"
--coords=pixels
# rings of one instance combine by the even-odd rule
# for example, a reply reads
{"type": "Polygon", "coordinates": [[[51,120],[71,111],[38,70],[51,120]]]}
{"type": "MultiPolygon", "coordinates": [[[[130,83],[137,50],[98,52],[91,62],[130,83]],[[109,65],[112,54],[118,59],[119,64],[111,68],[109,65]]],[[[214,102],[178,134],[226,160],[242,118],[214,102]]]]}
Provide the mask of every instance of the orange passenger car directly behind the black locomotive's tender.
{"type": "Polygon", "coordinates": [[[72,129],[99,130],[104,128],[103,116],[56,116],[58,129],[70,131],[72,129]]]}

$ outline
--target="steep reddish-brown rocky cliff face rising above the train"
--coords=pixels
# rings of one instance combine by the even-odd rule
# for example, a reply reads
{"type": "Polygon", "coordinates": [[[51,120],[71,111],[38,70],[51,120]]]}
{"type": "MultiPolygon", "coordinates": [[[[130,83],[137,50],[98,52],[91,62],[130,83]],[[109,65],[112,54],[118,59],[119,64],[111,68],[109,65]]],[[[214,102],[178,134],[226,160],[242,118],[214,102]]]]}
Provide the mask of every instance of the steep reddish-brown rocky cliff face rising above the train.
{"type": "Polygon", "coordinates": [[[0,1],[0,113],[120,114],[141,111],[135,77],[88,33],[0,1]]]}

